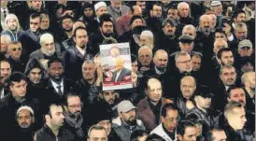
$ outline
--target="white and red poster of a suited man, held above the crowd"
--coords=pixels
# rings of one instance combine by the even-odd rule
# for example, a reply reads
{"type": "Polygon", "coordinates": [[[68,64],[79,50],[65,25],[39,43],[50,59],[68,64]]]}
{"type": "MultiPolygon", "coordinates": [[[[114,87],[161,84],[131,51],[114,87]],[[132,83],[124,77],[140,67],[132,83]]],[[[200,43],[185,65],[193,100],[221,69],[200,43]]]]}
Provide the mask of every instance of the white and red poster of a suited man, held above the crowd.
{"type": "Polygon", "coordinates": [[[100,46],[103,91],[133,88],[129,43],[100,46]]]}

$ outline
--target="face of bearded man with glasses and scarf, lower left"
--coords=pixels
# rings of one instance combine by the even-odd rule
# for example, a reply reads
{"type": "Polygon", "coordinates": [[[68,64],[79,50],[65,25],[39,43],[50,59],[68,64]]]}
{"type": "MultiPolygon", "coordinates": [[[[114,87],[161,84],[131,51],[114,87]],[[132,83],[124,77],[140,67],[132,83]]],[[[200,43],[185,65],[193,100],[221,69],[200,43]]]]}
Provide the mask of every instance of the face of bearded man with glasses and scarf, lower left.
{"type": "Polygon", "coordinates": [[[70,96],[67,99],[67,110],[73,115],[79,115],[81,113],[81,101],[78,96],[70,96]]]}

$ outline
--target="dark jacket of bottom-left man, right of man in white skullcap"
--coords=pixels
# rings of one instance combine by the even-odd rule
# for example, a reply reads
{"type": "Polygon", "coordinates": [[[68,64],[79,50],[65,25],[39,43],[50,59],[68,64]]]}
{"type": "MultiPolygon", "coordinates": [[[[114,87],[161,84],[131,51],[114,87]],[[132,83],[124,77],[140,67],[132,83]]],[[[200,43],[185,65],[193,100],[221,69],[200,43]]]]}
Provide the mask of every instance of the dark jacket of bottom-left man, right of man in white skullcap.
{"type": "Polygon", "coordinates": [[[44,125],[40,130],[36,132],[36,141],[74,141],[74,134],[71,134],[68,130],[60,128],[59,134],[56,136],[52,133],[48,125],[44,125]]]}

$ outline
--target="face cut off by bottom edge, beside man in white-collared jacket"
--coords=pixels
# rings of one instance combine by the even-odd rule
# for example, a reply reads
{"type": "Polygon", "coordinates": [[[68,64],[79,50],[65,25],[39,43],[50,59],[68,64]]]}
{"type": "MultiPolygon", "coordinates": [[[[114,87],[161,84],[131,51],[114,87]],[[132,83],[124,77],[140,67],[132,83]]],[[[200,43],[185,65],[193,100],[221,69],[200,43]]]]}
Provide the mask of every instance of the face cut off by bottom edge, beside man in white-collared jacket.
{"type": "Polygon", "coordinates": [[[186,127],[183,136],[178,135],[180,141],[196,141],[196,127],[186,127]]]}

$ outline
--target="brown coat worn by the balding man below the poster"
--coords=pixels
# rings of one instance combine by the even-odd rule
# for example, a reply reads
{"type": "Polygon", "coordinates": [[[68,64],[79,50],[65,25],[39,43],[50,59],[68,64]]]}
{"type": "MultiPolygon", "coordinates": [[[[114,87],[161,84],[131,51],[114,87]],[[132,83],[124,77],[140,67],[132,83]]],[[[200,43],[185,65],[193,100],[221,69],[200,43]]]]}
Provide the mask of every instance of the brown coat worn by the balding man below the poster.
{"type": "MultiPolygon", "coordinates": [[[[166,98],[162,98],[162,106],[161,106],[159,115],[161,115],[162,107],[165,104],[169,104],[169,103],[173,103],[173,101],[166,98]]],[[[144,125],[146,126],[146,129],[149,131],[151,131],[161,123],[161,120],[159,120],[157,123],[155,122],[155,115],[149,106],[149,100],[147,97],[138,103],[137,114],[138,114],[138,119],[143,121],[144,125]]]]}

